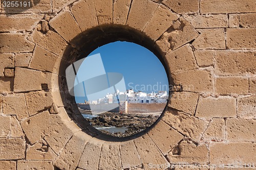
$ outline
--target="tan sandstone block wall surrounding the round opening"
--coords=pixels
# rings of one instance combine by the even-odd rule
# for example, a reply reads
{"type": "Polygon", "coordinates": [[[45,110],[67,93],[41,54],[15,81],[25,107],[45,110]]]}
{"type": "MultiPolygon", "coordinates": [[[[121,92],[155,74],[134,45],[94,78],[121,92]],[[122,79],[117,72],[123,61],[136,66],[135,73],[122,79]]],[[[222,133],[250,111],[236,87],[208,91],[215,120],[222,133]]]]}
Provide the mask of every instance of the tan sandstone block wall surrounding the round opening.
{"type": "Polygon", "coordinates": [[[256,164],[254,0],[41,0],[0,11],[0,169],[256,164]],[[81,122],[65,84],[81,53],[117,40],[149,48],[180,89],[153,128],[122,140],[81,122]]]}

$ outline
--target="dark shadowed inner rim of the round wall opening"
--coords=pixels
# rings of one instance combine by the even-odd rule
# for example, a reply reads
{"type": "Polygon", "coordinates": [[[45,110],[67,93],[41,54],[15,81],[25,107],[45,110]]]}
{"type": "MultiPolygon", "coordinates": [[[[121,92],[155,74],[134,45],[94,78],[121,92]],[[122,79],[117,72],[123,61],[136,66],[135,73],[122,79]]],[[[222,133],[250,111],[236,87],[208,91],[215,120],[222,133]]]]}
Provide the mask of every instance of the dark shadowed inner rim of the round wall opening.
{"type": "MultiPolygon", "coordinates": [[[[104,25],[104,26],[92,28],[86,32],[82,32],[69,42],[71,45],[69,45],[66,48],[62,57],[63,60],[60,63],[59,75],[61,75],[62,77],[59,77],[59,88],[61,91],[61,99],[63,101],[63,104],[65,105],[66,110],[71,114],[70,116],[72,116],[75,123],[80,125],[87,134],[91,134],[92,136],[97,136],[98,138],[104,139],[104,140],[124,141],[124,140],[131,140],[131,139],[137,138],[147,133],[159,122],[162,116],[160,116],[159,119],[150,128],[133,136],[117,138],[117,137],[109,136],[106,134],[102,134],[102,132],[94,129],[92,126],[89,125],[87,121],[84,120],[83,116],[78,110],[74,96],[71,96],[69,94],[67,81],[65,78],[66,68],[70,64],[88,56],[91,52],[93,52],[99,46],[102,46],[104,44],[108,44],[111,42],[115,42],[115,41],[134,42],[136,44],[146,47],[148,50],[153,52],[163,64],[165,71],[167,73],[167,77],[169,78],[169,84],[173,84],[172,83],[173,81],[170,75],[168,75],[169,71],[167,71],[167,67],[165,65],[163,56],[161,56],[160,53],[158,52],[153,40],[151,40],[141,32],[129,26],[104,25]]],[[[165,109],[166,109],[166,106],[167,105],[165,105],[165,109]]]]}

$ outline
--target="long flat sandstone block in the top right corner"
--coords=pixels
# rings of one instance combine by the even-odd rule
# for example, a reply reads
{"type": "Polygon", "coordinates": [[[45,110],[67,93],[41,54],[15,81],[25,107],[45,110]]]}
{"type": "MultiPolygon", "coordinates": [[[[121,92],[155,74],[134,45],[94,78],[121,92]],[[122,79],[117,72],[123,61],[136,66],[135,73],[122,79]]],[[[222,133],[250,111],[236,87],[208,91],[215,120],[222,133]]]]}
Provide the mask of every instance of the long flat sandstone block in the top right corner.
{"type": "Polygon", "coordinates": [[[202,0],[200,2],[200,12],[203,14],[256,12],[254,6],[255,2],[253,0],[202,0]]]}

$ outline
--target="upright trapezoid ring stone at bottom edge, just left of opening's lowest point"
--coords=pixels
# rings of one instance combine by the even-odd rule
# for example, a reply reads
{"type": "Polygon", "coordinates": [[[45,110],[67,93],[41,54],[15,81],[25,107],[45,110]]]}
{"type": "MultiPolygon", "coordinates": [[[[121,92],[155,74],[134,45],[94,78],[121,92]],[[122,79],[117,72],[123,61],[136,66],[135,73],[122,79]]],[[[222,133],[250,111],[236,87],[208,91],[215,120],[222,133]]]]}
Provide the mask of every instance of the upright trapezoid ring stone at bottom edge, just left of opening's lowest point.
{"type": "Polygon", "coordinates": [[[122,169],[119,145],[120,142],[103,143],[99,160],[99,170],[122,169]]]}

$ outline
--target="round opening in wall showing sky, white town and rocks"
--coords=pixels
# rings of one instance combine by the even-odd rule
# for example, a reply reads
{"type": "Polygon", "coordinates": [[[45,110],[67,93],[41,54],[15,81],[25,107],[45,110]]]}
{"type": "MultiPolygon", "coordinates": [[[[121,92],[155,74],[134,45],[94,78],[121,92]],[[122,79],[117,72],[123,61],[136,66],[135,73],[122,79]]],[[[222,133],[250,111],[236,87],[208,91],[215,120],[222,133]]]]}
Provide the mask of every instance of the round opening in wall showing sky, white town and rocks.
{"type": "Polygon", "coordinates": [[[69,77],[75,77],[72,95],[83,118],[112,136],[131,136],[151,127],[167,104],[164,66],[136,43],[98,47],[67,68],[67,81],[69,77]]]}

